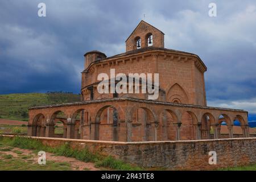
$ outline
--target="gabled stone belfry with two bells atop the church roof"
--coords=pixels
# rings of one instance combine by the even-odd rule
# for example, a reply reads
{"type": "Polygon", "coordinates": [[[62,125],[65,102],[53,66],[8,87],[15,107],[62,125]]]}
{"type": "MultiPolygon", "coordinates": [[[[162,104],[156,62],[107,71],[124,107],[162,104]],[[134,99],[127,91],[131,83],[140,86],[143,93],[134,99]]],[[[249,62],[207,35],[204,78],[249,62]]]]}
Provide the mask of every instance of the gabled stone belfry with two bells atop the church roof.
{"type": "Polygon", "coordinates": [[[141,20],[126,40],[126,52],[151,46],[164,48],[164,33],[141,20]]]}

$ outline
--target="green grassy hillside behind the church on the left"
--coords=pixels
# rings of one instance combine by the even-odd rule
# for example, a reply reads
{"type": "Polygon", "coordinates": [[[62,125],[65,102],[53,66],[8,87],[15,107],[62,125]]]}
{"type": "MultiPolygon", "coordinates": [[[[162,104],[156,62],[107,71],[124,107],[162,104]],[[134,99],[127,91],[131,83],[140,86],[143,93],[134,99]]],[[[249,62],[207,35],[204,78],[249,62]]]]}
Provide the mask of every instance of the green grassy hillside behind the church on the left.
{"type": "Polygon", "coordinates": [[[68,92],[0,95],[0,118],[28,121],[28,107],[80,101],[80,94],[68,92]]]}

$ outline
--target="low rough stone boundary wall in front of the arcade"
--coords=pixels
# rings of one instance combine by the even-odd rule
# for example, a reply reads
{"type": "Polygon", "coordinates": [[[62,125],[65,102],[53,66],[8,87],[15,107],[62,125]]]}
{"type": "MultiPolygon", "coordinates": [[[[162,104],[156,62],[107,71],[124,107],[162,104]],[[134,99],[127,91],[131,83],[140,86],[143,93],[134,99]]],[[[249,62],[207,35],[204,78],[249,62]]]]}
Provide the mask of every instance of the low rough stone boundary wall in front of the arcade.
{"type": "MultiPolygon", "coordinates": [[[[11,137],[2,135],[4,137],[11,137]]],[[[72,147],[88,147],[104,155],[143,167],[170,169],[214,169],[256,163],[256,138],[184,140],[166,142],[108,142],[31,137],[49,146],[69,142],[72,147]],[[209,164],[209,151],[216,151],[217,164],[209,164]]]]}

